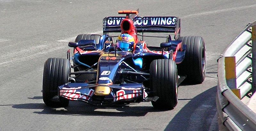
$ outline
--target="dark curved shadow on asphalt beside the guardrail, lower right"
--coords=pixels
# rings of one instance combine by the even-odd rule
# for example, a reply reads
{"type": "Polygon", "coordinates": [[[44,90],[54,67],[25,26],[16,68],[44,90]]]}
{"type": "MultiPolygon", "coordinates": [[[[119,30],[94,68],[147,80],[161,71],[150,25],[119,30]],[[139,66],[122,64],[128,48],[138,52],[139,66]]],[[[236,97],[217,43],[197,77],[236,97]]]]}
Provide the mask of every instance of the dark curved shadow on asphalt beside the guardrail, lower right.
{"type": "MultiPolygon", "coordinates": [[[[191,99],[166,126],[166,131],[218,130],[214,86],[191,99]]],[[[187,99],[179,99],[187,100],[187,99]]]]}

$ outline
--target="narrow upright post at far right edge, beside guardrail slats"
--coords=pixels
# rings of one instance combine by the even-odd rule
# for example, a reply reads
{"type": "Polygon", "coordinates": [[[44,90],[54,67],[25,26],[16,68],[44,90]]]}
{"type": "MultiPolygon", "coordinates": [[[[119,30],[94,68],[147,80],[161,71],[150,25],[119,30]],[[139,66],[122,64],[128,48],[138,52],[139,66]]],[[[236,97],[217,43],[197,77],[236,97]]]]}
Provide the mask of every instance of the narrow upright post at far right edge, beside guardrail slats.
{"type": "Polygon", "coordinates": [[[252,94],[256,91],[256,21],[252,23],[252,94]]]}

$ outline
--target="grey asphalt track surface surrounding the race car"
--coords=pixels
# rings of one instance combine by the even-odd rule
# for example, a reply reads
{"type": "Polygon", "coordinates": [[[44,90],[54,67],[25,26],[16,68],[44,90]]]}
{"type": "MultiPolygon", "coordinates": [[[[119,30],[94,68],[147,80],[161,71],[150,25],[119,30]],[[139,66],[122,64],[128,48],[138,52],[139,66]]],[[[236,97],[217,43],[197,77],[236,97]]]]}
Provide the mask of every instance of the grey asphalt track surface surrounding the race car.
{"type": "Polygon", "coordinates": [[[0,0],[0,130],[218,130],[217,59],[256,20],[255,9],[255,0],[0,0]],[[140,16],[179,16],[181,36],[204,38],[205,81],[180,86],[179,103],[168,111],[150,102],[94,107],[75,101],[66,108],[46,107],[41,92],[45,60],[66,58],[67,41],[101,33],[102,18],[137,8],[140,16]]]}

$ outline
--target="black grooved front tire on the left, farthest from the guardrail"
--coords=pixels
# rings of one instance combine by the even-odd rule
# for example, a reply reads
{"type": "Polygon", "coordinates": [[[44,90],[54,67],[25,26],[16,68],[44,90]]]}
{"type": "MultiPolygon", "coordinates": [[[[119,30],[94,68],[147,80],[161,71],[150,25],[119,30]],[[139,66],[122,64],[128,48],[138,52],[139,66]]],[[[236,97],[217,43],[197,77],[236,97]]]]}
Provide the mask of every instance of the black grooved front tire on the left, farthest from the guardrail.
{"type": "Polygon", "coordinates": [[[43,100],[50,107],[67,107],[69,100],[60,97],[59,101],[52,100],[58,96],[58,86],[68,83],[70,63],[68,59],[49,58],[44,63],[43,100]]]}

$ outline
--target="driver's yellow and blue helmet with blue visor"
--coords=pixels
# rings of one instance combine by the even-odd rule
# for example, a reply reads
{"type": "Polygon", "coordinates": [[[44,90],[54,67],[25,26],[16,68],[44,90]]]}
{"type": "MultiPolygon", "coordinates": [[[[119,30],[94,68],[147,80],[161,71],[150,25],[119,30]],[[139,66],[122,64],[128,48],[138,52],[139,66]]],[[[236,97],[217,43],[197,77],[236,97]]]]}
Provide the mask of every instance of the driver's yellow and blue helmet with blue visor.
{"type": "Polygon", "coordinates": [[[117,38],[116,45],[122,51],[131,52],[134,45],[134,38],[129,34],[121,34],[117,38]]]}

